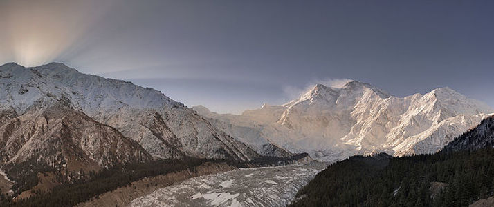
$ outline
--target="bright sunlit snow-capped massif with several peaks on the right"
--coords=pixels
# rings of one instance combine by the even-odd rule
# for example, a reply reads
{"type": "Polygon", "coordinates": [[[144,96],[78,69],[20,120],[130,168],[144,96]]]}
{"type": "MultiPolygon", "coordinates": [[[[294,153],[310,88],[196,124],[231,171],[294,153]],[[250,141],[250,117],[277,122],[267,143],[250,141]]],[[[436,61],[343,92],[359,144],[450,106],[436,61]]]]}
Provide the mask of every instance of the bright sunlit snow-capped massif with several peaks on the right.
{"type": "Polygon", "coordinates": [[[395,156],[437,152],[491,112],[486,104],[450,88],[401,98],[349,81],[341,88],[318,84],[282,106],[265,105],[239,116],[199,113],[250,127],[291,152],[333,161],[374,152],[395,156]]]}

